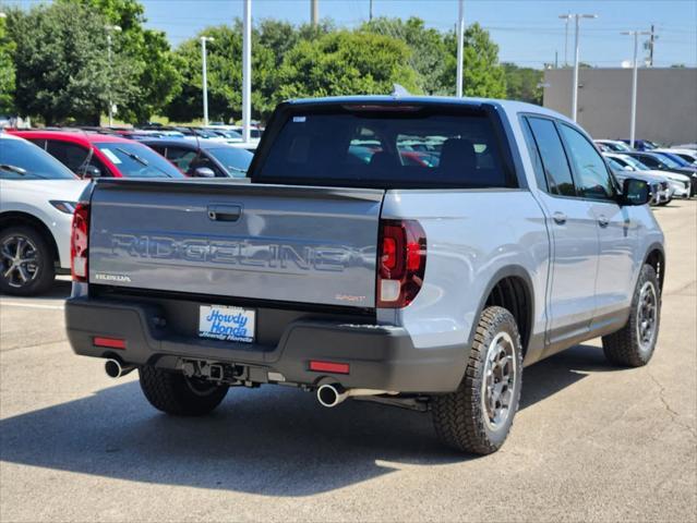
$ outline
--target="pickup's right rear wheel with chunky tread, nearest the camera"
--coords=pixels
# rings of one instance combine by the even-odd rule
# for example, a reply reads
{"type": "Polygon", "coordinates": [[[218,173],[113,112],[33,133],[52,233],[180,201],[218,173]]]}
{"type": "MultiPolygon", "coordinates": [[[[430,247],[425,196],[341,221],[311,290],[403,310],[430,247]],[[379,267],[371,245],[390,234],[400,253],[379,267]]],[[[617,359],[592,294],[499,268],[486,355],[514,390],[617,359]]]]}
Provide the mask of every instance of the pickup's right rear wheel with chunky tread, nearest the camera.
{"type": "Polygon", "coordinates": [[[518,410],[521,382],[522,346],[516,320],[503,307],[486,307],[459,388],[433,397],[438,438],[465,452],[498,450],[518,410]]]}

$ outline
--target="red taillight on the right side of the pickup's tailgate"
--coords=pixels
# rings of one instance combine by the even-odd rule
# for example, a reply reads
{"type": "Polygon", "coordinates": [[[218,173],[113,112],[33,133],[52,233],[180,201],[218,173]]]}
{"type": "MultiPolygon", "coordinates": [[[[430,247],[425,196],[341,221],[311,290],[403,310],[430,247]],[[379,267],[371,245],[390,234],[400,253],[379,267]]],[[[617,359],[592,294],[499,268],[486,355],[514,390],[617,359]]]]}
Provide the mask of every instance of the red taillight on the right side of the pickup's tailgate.
{"type": "Polygon", "coordinates": [[[377,306],[401,308],[421,290],[426,241],[416,220],[382,220],[377,253],[377,306]]]}

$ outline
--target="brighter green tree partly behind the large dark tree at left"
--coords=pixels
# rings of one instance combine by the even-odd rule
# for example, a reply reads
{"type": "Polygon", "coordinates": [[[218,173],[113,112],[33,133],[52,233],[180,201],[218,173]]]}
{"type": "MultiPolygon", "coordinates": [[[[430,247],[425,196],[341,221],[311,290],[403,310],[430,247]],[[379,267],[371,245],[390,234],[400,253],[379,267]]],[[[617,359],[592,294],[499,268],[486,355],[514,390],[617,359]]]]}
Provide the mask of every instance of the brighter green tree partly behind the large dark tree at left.
{"type": "Polygon", "coordinates": [[[137,0],[59,0],[69,5],[96,10],[110,25],[121,27],[113,34],[115,61],[125,60],[127,81],[132,96],[119,107],[119,118],[144,122],[159,113],[181,88],[180,61],[172,53],[163,32],[146,29],[143,4],[137,0]]]}

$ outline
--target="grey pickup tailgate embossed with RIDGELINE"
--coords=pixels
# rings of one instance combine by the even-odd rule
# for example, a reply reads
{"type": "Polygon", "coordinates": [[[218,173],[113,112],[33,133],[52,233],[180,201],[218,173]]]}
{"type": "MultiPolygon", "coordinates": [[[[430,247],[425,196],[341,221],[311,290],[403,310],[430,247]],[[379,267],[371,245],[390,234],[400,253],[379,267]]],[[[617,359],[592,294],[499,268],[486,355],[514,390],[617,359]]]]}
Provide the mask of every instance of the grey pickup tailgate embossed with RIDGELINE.
{"type": "Polygon", "coordinates": [[[100,180],[89,281],[134,289],[375,306],[384,191],[100,180]]]}

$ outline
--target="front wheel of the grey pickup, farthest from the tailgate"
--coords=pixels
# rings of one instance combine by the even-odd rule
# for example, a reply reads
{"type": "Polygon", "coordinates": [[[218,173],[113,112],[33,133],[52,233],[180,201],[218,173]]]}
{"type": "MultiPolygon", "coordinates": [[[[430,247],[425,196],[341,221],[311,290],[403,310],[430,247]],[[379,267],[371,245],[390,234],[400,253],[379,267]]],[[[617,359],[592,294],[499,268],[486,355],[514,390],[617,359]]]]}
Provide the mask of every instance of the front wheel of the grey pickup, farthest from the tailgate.
{"type": "MultiPolygon", "coordinates": [[[[649,291],[647,291],[649,292],[649,291]]],[[[649,297],[649,302],[651,299],[649,297]]],[[[612,335],[603,336],[602,348],[605,357],[614,365],[622,367],[641,367],[649,363],[656,342],[658,340],[659,327],[661,325],[661,287],[658,281],[656,270],[650,265],[641,267],[637,287],[632,297],[632,308],[627,325],[612,335]],[[650,336],[646,336],[646,326],[642,320],[648,314],[646,293],[642,290],[647,287],[653,292],[653,325],[650,336]]]]}

